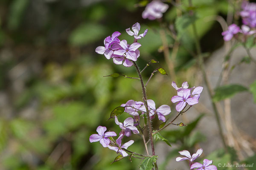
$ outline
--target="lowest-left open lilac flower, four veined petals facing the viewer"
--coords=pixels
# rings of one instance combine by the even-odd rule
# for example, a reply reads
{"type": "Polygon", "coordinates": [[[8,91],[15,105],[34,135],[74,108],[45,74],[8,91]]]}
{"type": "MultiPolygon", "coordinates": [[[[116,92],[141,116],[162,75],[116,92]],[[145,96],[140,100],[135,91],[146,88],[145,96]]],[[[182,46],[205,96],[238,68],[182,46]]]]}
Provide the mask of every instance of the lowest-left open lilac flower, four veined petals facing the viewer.
{"type": "Polygon", "coordinates": [[[106,132],[104,133],[105,131],[107,130],[106,127],[102,127],[102,126],[99,126],[97,127],[96,131],[99,133],[99,134],[92,134],[90,136],[90,142],[98,142],[102,144],[103,147],[107,147],[110,143],[110,140],[108,139],[108,137],[110,136],[116,136],[116,133],[115,132],[106,132]]]}

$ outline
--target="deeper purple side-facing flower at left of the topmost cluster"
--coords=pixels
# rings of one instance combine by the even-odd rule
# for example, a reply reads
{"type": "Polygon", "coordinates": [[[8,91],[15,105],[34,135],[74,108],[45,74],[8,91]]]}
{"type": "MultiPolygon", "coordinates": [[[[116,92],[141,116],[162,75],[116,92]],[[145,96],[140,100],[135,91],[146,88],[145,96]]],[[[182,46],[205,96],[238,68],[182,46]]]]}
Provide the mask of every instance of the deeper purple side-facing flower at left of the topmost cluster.
{"type": "Polygon", "coordinates": [[[118,43],[120,40],[117,38],[121,33],[118,31],[114,32],[112,34],[112,37],[108,36],[104,40],[104,45],[105,46],[99,46],[95,49],[96,53],[98,54],[104,54],[107,59],[110,59],[113,57],[113,52],[114,50],[118,49],[119,46],[118,43]]]}

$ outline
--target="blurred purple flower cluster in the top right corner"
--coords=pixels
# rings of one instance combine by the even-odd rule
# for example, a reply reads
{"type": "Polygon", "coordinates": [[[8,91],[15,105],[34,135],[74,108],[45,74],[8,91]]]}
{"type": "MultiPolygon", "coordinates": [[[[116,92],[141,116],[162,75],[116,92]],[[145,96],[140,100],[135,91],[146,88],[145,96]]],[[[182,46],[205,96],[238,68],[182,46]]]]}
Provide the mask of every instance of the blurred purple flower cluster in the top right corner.
{"type": "Polygon", "coordinates": [[[231,24],[226,31],[222,32],[225,41],[230,41],[234,35],[241,33],[244,36],[252,35],[256,33],[253,28],[256,27],[256,3],[249,3],[244,1],[241,5],[242,11],[240,16],[242,17],[243,24],[241,29],[236,24],[231,24]]]}

